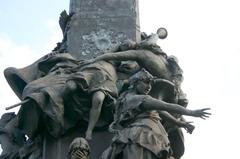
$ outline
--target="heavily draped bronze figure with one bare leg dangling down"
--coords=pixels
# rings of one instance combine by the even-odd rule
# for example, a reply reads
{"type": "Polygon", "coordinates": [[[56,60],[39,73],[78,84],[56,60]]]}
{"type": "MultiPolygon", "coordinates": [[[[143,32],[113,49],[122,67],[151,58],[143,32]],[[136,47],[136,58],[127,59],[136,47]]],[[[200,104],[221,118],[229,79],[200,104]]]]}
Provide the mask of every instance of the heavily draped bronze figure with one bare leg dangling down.
{"type": "MultiPolygon", "coordinates": [[[[102,106],[102,112],[111,112],[109,107],[118,96],[114,63],[78,61],[62,53],[40,61],[38,68],[45,75],[24,87],[18,127],[29,138],[44,129],[59,137],[84,120],[88,123],[86,138],[90,140],[102,106]]],[[[111,123],[109,114],[100,127],[111,123]]]]}

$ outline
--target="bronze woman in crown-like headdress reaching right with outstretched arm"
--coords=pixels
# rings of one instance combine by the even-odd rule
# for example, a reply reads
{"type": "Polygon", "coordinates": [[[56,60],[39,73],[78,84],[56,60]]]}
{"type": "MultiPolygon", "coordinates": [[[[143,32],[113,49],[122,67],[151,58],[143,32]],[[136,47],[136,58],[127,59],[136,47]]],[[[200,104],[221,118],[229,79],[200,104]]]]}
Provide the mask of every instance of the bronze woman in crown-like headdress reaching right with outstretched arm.
{"type": "MultiPolygon", "coordinates": [[[[210,115],[208,108],[188,110],[147,95],[152,78],[147,71],[140,71],[130,79],[132,87],[118,98],[114,120],[118,131],[102,159],[167,159],[170,143],[157,110],[201,118],[210,115]]],[[[182,126],[188,128],[189,124],[182,126]]]]}

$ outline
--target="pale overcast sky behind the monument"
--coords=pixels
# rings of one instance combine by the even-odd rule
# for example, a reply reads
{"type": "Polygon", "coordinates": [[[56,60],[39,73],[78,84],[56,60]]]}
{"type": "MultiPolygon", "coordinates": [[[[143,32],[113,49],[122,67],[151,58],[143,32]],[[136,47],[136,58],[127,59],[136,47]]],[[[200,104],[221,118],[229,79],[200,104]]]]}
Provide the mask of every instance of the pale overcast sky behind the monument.
{"type": "MultiPolygon", "coordinates": [[[[3,77],[7,67],[25,67],[61,41],[59,14],[68,0],[10,0],[0,5],[0,115],[19,102],[3,77]]],[[[211,107],[207,120],[185,134],[183,159],[237,158],[240,143],[240,2],[238,0],[140,0],[141,31],[159,27],[159,45],[184,70],[188,108],[211,107]]],[[[17,111],[17,109],[14,109],[17,111]]]]}

